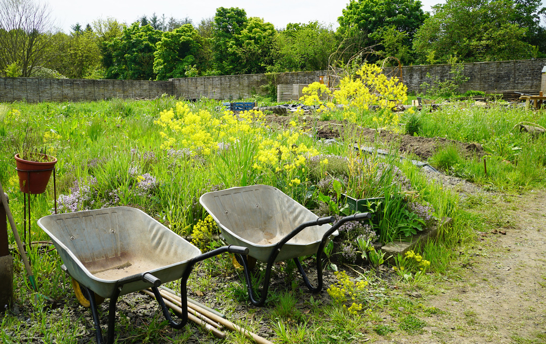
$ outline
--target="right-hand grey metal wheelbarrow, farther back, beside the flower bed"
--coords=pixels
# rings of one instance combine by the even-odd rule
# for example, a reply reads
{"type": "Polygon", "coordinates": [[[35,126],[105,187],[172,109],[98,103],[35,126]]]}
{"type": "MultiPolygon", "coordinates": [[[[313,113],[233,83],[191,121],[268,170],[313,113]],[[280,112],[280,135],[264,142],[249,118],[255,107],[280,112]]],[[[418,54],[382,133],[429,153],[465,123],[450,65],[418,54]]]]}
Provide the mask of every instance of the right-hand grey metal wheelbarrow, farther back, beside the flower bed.
{"type": "Polygon", "coordinates": [[[370,218],[370,213],[346,216],[333,226],[334,217],[318,217],[279,189],[268,185],[233,187],[208,192],[199,202],[218,224],[225,241],[248,248],[239,254],[245,274],[248,297],[253,305],[262,306],[267,298],[273,264],[293,259],[307,288],[313,293],[322,289],[322,252],[338,235],[347,221],[370,218]],[[317,286],[312,286],[299,257],[316,254],[317,286]],[[260,298],[254,295],[247,256],[267,263],[260,298]]]}

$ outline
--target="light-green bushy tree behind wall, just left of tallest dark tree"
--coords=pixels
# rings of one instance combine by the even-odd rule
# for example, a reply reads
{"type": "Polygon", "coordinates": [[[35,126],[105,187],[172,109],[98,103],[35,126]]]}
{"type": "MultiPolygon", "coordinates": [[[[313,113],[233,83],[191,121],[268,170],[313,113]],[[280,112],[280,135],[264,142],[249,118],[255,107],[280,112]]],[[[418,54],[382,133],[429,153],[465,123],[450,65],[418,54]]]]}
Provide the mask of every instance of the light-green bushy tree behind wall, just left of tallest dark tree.
{"type": "Polygon", "coordinates": [[[288,23],[275,39],[275,71],[324,70],[337,48],[335,32],[317,21],[288,23]]]}

